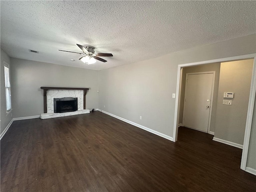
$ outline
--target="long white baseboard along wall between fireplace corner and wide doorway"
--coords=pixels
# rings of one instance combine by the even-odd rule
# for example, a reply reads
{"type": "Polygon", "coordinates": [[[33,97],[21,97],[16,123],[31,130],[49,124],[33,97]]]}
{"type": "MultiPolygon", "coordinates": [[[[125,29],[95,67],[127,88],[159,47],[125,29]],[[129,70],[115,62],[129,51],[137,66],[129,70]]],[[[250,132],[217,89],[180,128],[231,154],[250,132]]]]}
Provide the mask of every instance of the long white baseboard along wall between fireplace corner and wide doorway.
{"type": "Polygon", "coordinates": [[[111,113],[109,113],[109,112],[103,111],[103,110],[101,110],[101,109],[95,109],[95,110],[100,111],[100,112],[102,112],[102,113],[105,113],[105,114],[107,114],[107,115],[110,115],[110,116],[112,116],[112,117],[114,117],[114,118],[117,118],[117,119],[119,119],[119,120],[121,120],[121,121],[124,121],[124,122],[126,122],[126,123],[128,123],[128,124],[134,125],[134,126],[136,126],[136,127],[138,127],[138,128],[141,128],[141,129],[143,129],[143,130],[146,130],[146,131],[148,131],[148,132],[150,132],[150,133],[156,134],[156,135],[158,135],[158,136],[160,136],[160,137],[163,137],[163,138],[165,138],[165,139],[168,139],[168,140],[170,140],[170,141],[173,141],[173,138],[172,138],[172,137],[167,136],[167,135],[165,135],[165,134],[162,134],[162,133],[160,133],[160,132],[157,132],[157,131],[155,131],[155,130],[152,130],[152,129],[150,129],[150,128],[147,128],[147,127],[145,127],[145,126],[142,126],[142,125],[140,125],[140,124],[137,124],[137,123],[134,123],[134,122],[132,122],[132,121],[126,120],[126,119],[124,119],[124,118],[122,118],[122,117],[118,117],[118,116],[116,116],[116,115],[114,115],[114,114],[111,114],[111,113]]]}

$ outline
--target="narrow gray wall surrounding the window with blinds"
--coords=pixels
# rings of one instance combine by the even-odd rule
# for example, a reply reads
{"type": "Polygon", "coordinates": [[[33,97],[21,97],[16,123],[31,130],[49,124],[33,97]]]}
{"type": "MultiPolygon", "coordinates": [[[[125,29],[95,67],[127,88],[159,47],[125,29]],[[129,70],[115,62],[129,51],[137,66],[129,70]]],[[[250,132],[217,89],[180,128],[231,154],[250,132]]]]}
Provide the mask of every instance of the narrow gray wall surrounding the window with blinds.
{"type": "MultiPolygon", "coordinates": [[[[10,57],[1,49],[1,65],[0,65],[0,132],[4,131],[6,126],[10,123],[12,120],[11,113],[6,114],[6,97],[5,97],[5,84],[4,84],[4,61],[9,64],[9,67],[11,69],[10,64],[10,57]]],[[[12,76],[12,73],[10,72],[10,76],[12,76]]],[[[12,81],[10,80],[11,87],[12,87],[12,81]]],[[[12,94],[12,91],[11,91],[12,94]]],[[[12,99],[12,98],[11,98],[12,99]]]]}

